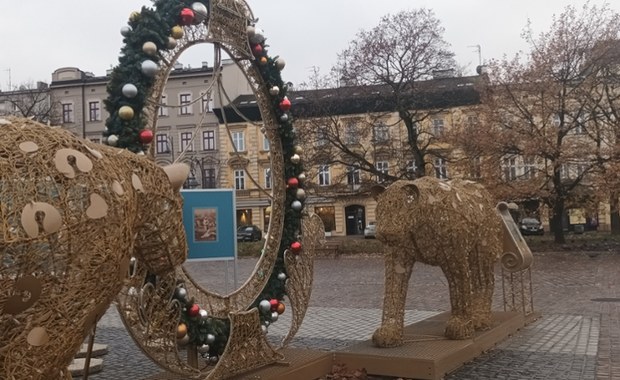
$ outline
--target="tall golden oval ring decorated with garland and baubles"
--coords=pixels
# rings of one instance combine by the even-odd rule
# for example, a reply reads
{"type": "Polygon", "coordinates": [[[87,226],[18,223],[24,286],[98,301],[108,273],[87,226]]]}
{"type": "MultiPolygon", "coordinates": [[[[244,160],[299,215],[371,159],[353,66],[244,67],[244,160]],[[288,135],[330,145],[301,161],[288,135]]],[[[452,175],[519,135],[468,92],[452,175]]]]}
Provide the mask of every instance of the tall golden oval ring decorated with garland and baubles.
{"type": "MultiPolygon", "coordinates": [[[[108,84],[104,141],[152,155],[158,108],[174,63],[187,48],[212,43],[236,62],[256,96],[261,130],[270,141],[272,212],[259,262],[233,293],[201,288],[182,267],[155,277],[135,262],[118,307],[136,343],[159,365],[186,375],[226,377],[280,359],[264,331],[283,312],[285,294],[293,311],[285,342],[299,328],[310,296],[312,248],[322,228],[318,217],[307,218],[302,227],[302,152],[295,146],[281,77],[284,61],[268,54],[248,5],[242,0],[155,0],[154,5],[132,13],[121,30],[125,46],[108,84]],[[185,344],[206,360],[183,360],[179,346],[185,344]]],[[[216,81],[218,54],[214,66],[216,81]]]]}

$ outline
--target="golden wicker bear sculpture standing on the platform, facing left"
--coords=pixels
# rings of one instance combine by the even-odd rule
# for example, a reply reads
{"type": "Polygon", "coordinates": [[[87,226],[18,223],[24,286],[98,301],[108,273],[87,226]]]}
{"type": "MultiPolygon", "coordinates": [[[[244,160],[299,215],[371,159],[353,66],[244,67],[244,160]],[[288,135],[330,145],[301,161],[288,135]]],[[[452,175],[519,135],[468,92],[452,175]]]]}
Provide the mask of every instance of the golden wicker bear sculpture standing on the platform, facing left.
{"type": "Polygon", "coordinates": [[[491,196],[469,181],[423,177],[375,187],[377,239],[385,247],[385,296],[379,347],[403,343],[405,299],[413,265],[439,266],[448,280],[449,339],[470,338],[491,323],[494,263],[501,221],[491,196]]]}

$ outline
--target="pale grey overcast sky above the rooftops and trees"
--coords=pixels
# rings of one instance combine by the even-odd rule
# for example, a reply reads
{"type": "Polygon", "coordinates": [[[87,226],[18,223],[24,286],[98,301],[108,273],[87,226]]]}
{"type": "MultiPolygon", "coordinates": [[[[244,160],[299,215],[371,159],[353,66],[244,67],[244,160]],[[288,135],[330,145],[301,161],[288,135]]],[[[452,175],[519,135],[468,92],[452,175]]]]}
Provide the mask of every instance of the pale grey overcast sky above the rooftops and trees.
{"type": "MultiPolygon", "coordinates": [[[[173,0],[170,0],[173,1],[173,0]]],[[[380,17],[403,9],[427,7],[444,26],[445,39],[456,59],[473,74],[482,59],[514,55],[527,45],[521,32],[528,18],[536,32],[545,31],[552,15],[583,0],[247,0],[258,27],[265,31],[271,55],[287,61],[283,79],[295,84],[309,77],[312,67],[327,73],[337,54],[360,29],[375,26],[380,17]]],[[[602,0],[591,0],[602,4],[602,0]]],[[[609,1],[620,12],[620,1],[609,1]]],[[[131,11],[150,6],[149,0],[0,0],[0,90],[12,85],[51,81],[60,67],[78,67],[105,75],[118,63],[120,28],[131,11]],[[9,72],[10,70],[10,72],[9,72]],[[9,75],[10,73],[10,75],[9,75]]],[[[180,61],[199,66],[209,49],[192,47],[180,61]]]]}

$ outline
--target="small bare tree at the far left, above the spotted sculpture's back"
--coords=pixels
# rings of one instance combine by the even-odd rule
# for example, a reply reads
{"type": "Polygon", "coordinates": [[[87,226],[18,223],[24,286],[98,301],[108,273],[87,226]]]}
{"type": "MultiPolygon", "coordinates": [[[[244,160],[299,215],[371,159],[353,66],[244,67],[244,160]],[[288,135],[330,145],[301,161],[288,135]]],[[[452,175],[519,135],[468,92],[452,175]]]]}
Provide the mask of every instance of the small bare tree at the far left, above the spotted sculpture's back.
{"type": "Polygon", "coordinates": [[[0,102],[4,104],[4,114],[32,118],[41,123],[59,122],[58,107],[47,83],[29,82],[11,91],[0,92],[0,102]]]}

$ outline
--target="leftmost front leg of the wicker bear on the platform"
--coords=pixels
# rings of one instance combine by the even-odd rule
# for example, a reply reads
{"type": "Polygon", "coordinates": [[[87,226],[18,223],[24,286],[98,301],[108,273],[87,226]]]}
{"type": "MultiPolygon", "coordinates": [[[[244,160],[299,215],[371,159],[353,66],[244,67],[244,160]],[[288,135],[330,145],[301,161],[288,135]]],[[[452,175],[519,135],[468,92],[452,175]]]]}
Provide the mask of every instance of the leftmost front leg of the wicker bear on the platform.
{"type": "Polygon", "coordinates": [[[381,327],[372,336],[378,347],[403,344],[405,301],[414,264],[413,256],[408,252],[396,247],[386,248],[383,318],[381,327]]]}

